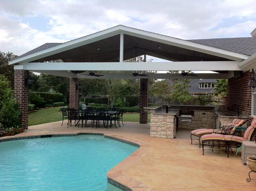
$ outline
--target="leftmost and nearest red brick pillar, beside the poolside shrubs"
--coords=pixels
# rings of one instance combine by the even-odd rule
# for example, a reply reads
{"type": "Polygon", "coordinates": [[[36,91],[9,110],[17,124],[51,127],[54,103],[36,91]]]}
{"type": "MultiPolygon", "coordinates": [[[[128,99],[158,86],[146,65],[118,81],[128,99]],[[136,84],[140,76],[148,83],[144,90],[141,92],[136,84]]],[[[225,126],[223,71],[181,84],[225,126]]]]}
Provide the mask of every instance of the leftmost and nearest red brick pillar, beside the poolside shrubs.
{"type": "Polygon", "coordinates": [[[28,70],[14,70],[14,98],[20,103],[23,129],[28,129],[28,86],[25,86],[28,74],[28,70]]]}

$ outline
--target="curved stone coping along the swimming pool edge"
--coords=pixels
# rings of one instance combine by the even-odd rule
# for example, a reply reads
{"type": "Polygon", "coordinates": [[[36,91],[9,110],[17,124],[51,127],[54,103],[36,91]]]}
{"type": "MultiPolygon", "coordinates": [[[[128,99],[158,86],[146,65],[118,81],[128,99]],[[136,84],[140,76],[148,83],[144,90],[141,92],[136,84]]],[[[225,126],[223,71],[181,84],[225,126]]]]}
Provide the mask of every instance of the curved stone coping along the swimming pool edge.
{"type": "Polygon", "coordinates": [[[130,139],[128,137],[124,137],[121,135],[115,135],[114,133],[104,132],[104,133],[93,133],[93,132],[77,132],[77,133],[45,133],[40,135],[20,135],[22,133],[8,136],[8,137],[0,137],[0,143],[6,141],[15,141],[15,140],[22,140],[22,139],[37,139],[37,138],[44,138],[44,137],[73,137],[78,135],[103,135],[104,138],[114,139],[116,141],[121,141],[130,145],[137,146],[138,149],[134,151],[131,155],[126,157],[112,169],[107,172],[107,181],[111,185],[118,187],[123,191],[136,191],[142,190],[143,191],[151,191],[151,189],[145,185],[144,183],[124,174],[124,171],[134,162],[136,162],[141,155],[143,155],[149,148],[150,144],[137,141],[134,139],[130,139]]]}

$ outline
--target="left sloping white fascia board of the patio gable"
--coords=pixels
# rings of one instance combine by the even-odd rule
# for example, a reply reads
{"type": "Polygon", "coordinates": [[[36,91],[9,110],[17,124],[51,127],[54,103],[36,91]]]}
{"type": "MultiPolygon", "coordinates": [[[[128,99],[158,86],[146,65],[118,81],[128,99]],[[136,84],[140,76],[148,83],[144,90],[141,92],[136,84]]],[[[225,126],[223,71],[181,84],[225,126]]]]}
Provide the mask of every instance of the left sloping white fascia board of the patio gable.
{"type": "Polygon", "coordinates": [[[110,28],[109,30],[104,30],[104,31],[90,34],[88,36],[84,36],[84,37],[81,37],[81,38],[78,38],[75,40],[64,42],[57,46],[47,48],[45,50],[41,50],[39,52],[30,54],[28,56],[24,56],[24,57],[15,59],[15,60],[10,60],[9,65],[16,64],[16,63],[24,64],[27,62],[31,62],[33,60],[44,58],[46,56],[51,56],[53,54],[57,54],[57,53],[60,53],[60,52],[66,51],[66,50],[70,50],[72,48],[76,48],[76,47],[90,44],[92,42],[96,42],[98,40],[102,40],[102,39],[105,39],[105,38],[108,38],[111,36],[115,36],[117,34],[120,34],[120,30],[114,30],[114,28],[110,28]]]}

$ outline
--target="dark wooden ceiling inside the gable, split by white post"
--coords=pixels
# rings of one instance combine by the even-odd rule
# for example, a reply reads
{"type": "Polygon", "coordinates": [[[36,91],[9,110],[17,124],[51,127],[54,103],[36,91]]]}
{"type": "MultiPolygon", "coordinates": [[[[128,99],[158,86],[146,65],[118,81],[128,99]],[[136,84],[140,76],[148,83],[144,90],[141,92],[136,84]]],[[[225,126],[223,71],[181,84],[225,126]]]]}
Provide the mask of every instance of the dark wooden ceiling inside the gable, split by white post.
{"type": "MultiPolygon", "coordinates": [[[[45,62],[59,59],[63,60],[63,62],[119,62],[119,54],[120,35],[118,34],[32,62],[45,62]]],[[[124,60],[135,58],[135,56],[142,56],[144,54],[174,62],[200,60],[229,61],[226,58],[196,52],[194,50],[188,50],[135,36],[124,35],[124,60]]]]}

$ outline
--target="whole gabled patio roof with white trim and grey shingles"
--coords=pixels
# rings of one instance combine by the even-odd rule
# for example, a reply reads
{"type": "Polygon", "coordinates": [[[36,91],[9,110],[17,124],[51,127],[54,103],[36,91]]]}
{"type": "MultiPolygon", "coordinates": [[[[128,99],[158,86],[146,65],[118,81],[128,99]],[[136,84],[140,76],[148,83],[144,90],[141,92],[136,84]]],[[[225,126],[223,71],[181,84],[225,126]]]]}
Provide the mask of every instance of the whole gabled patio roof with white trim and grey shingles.
{"type": "Polygon", "coordinates": [[[254,37],[182,40],[118,25],[69,42],[46,43],[10,60],[9,64],[18,64],[14,69],[70,78],[98,78],[84,75],[88,71],[212,70],[218,73],[189,77],[104,73],[100,78],[225,79],[232,77],[234,70],[244,70],[238,65],[256,53],[255,42],[254,37]],[[166,62],[124,62],[143,55],[166,62]]]}

